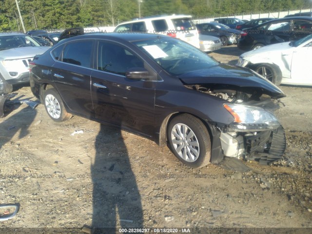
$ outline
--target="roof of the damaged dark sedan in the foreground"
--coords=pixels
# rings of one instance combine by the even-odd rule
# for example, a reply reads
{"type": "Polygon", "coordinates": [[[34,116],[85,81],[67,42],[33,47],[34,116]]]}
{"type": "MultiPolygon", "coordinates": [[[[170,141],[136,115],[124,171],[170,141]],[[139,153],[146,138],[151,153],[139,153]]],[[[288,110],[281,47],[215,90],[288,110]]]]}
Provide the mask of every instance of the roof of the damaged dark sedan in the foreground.
{"type": "MultiPolygon", "coordinates": [[[[59,43],[66,41],[77,40],[77,39],[109,39],[109,40],[119,40],[119,41],[139,41],[145,39],[160,39],[160,38],[171,38],[169,36],[160,35],[160,34],[151,34],[151,33],[92,33],[84,34],[69,39],[61,40],[59,43]]],[[[58,43],[58,44],[59,44],[58,43]]]]}

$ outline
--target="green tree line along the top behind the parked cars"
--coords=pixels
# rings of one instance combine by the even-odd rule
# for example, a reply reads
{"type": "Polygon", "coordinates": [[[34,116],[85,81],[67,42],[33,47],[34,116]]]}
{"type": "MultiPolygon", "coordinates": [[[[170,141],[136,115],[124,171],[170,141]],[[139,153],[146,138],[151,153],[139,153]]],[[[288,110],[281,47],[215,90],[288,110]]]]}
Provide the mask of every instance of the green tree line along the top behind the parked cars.
{"type": "MultiPolygon", "coordinates": [[[[139,17],[188,14],[194,18],[287,11],[311,0],[20,0],[26,30],[116,26],[139,17]]],[[[0,0],[0,31],[22,31],[15,0],[0,0]]]]}

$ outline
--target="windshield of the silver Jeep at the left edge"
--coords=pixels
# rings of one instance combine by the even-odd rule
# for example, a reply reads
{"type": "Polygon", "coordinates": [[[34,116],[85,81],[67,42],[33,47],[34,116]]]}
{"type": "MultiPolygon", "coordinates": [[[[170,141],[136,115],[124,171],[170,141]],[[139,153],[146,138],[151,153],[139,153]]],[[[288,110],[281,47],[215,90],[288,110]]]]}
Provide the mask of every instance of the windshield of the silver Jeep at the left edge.
{"type": "Polygon", "coordinates": [[[0,36],[0,50],[8,50],[25,46],[40,46],[40,44],[27,35],[0,36]]]}

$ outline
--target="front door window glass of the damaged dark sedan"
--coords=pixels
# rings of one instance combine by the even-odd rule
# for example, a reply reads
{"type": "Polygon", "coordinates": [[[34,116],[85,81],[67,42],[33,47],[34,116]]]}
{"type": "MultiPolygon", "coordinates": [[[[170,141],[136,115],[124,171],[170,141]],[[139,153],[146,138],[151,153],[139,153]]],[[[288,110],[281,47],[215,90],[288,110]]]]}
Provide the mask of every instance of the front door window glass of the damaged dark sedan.
{"type": "Polygon", "coordinates": [[[122,46],[98,42],[98,70],[124,76],[133,67],[144,68],[144,62],[122,46]]]}

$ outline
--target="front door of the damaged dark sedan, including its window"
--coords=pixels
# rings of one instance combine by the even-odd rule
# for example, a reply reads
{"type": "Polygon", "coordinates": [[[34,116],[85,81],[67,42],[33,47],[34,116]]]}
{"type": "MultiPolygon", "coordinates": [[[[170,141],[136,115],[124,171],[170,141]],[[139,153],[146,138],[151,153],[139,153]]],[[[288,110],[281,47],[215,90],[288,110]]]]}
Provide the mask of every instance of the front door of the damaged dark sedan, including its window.
{"type": "Polygon", "coordinates": [[[99,42],[98,70],[91,74],[95,117],[151,136],[156,82],[126,78],[125,71],[131,67],[144,64],[117,44],[99,42]]]}

